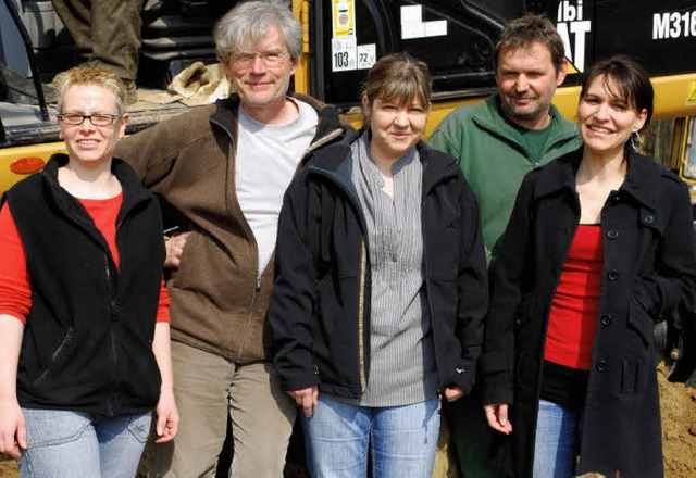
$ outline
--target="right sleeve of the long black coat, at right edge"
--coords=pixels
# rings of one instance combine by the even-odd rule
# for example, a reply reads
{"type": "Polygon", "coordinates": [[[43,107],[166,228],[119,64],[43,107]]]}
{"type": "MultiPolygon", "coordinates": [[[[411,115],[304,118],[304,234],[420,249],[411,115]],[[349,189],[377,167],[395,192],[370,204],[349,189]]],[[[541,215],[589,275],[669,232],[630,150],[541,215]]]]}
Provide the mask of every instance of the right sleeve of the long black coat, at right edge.
{"type": "MultiPolygon", "coordinates": [[[[664,188],[666,217],[654,269],[638,277],[636,299],[655,319],[666,318],[679,305],[694,310],[696,297],[696,249],[691,196],[686,186],[668,178],[664,188]]],[[[641,218],[645,221],[644,217],[641,218]]]]}

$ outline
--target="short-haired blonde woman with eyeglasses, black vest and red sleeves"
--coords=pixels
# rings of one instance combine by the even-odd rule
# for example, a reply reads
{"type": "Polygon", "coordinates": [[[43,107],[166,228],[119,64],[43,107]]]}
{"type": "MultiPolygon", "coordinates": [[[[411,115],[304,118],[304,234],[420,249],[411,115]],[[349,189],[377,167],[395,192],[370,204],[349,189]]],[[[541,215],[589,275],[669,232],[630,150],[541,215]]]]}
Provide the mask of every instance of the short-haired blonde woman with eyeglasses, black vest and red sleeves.
{"type": "Polygon", "coordinates": [[[176,435],[157,199],[112,156],[126,90],[78,67],[54,154],[0,212],[0,452],[21,477],[135,476],[156,411],[176,435]]]}

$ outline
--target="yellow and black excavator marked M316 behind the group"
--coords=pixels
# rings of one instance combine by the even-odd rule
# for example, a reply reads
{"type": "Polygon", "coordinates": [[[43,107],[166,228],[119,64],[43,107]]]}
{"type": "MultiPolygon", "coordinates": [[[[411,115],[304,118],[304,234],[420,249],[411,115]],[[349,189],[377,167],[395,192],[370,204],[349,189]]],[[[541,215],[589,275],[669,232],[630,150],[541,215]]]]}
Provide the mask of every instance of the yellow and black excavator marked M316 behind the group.
{"type": "MultiPolygon", "coordinates": [[[[145,1],[138,98],[165,90],[196,62],[216,63],[212,26],[235,3],[145,1]]],[[[505,24],[527,12],[546,14],[570,65],[556,105],[572,120],[586,66],[616,53],[636,59],[656,90],[656,121],[644,147],[689,184],[696,202],[695,0],[293,0],[288,8],[303,27],[295,91],[336,105],[357,126],[370,66],[386,53],[408,51],[433,73],[426,134],[453,109],[495,91],[494,46],[505,24]]],[[[0,194],[64,150],[50,80],[74,65],[74,50],[49,0],[0,0],[0,194]]],[[[188,108],[137,101],[128,106],[127,133],[188,108]]]]}

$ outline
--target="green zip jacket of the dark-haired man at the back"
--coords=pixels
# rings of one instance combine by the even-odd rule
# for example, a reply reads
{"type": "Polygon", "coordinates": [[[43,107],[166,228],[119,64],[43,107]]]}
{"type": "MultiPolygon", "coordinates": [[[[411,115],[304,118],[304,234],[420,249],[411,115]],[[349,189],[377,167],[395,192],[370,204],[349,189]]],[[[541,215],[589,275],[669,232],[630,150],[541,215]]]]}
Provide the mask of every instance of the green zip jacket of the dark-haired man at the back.
{"type": "Polygon", "coordinates": [[[475,106],[458,108],[430,138],[433,148],[455,156],[476,194],[488,260],[508,225],[524,175],[582,144],[575,126],[551,104],[551,131],[535,161],[520,133],[502,117],[498,98],[496,93],[475,106]]]}

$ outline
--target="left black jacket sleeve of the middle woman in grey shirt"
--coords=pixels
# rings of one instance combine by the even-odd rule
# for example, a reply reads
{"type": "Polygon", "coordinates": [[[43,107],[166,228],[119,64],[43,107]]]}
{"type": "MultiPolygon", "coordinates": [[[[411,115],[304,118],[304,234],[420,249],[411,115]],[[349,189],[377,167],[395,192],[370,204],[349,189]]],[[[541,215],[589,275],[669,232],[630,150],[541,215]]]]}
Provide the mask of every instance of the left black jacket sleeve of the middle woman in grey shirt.
{"type": "Polygon", "coordinates": [[[308,246],[309,188],[300,174],[288,188],[278,219],[275,282],[268,313],[274,365],[285,391],[319,385],[312,356],[315,265],[308,246]]]}

